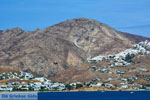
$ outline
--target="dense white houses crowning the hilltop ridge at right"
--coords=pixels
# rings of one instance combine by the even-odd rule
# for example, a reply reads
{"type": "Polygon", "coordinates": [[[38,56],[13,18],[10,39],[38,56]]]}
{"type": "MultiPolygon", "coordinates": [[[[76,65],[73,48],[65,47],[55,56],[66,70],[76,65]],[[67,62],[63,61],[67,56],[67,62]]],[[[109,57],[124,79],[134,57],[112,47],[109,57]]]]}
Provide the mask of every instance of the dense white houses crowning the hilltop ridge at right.
{"type": "Polygon", "coordinates": [[[110,61],[111,66],[127,66],[130,65],[130,62],[132,61],[132,58],[135,55],[144,55],[144,54],[150,54],[150,42],[148,42],[147,40],[135,44],[132,46],[132,48],[127,49],[118,54],[108,56],[96,56],[91,59],[88,59],[88,62],[95,63],[113,59],[110,61]]]}

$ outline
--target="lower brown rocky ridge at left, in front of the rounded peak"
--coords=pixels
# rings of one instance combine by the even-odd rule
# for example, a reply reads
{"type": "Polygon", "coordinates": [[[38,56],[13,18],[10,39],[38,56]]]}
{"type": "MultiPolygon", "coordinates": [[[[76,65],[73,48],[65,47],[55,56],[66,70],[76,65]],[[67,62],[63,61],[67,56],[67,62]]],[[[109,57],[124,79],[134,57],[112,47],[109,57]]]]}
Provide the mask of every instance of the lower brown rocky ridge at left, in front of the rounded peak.
{"type": "Polygon", "coordinates": [[[78,65],[86,57],[85,52],[73,43],[40,31],[25,32],[14,28],[4,31],[1,37],[1,65],[41,76],[54,76],[71,64],[78,65]]]}

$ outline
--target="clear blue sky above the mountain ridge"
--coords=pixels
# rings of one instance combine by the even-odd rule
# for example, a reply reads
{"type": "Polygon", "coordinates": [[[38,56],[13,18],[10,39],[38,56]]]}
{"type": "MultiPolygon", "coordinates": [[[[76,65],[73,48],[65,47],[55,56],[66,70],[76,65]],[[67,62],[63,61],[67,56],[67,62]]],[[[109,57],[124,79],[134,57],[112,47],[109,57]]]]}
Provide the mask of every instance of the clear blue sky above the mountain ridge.
{"type": "Polygon", "coordinates": [[[85,17],[150,37],[150,0],[0,0],[0,13],[0,30],[33,31],[85,17]]]}

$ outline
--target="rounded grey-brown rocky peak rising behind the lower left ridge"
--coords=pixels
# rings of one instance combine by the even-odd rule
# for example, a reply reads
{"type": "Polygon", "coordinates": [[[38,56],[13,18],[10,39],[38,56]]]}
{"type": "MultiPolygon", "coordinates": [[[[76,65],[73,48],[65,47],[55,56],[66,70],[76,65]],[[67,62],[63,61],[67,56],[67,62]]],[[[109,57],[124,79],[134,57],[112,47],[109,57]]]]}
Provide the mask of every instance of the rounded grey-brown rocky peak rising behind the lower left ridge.
{"type": "Polygon", "coordinates": [[[148,39],[137,36],[139,37],[137,40],[134,36],[118,32],[106,24],[85,18],[59,23],[46,28],[45,32],[57,35],[57,37],[59,35],[61,38],[73,42],[90,56],[119,52],[133,43],[148,39]]]}

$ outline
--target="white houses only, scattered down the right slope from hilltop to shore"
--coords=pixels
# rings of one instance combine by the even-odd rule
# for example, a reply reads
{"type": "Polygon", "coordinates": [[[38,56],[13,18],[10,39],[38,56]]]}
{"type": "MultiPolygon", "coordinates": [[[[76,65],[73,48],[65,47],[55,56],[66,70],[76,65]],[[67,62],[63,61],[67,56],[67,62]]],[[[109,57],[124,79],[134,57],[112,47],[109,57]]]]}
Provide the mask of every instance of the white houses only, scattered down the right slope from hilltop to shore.
{"type": "MultiPolygon", "coordinates": [[[[108,66],[105,64],[105,66],[102,65],[92,65],[89,66],[90,68],[92,68],[93,70],[100,72],[100,73],[108,73],[108,74],[112,74],[111,68],[114,68],[114,72],[118,74],[119,76],[124,75],[125,72],[124,71],[120,71],[117,67],[125,67],[128,66],[132,63],[132,59],[137,56],[137,55],[146,55],[146,54],[150,54],[150,42],[148,41],[144,41],[144,42],[140,42],[138,44],[133,45],[130,49],[127,49],[123,52],[120,52],[118,54],[115,55],[109,55],[109,56],[96,56],[93,57],[91,59],[88,59],[89,63],[97,63],[97,62],[103,62],[105,60],[107,60],[108,62],[108,66]]],[[[129,72],[132,72],[132,70],[129,70],[129,72]]],[[[138,68],[139,72],[149,72],[148,69],[145,68],[138,68]]],[[[143,78],[144,80],[146,80],[147,82],[150,82],[150,78],[149,77],[145,77],[143,78]]],[[[112,79],[112,78],[108,78],[106,79],[106,81],[108,81],[108,83],[104,83],[104,82],[98,82],[96,84],[93,84],[94,86],[105,86],[107,88],[121,88],[121,89],[134,89],[134,90],[140,90],[140,89],[146,89],[149,90],[150,85],[144,85],[143,83],[137,84],[135,81],[139,80],[138,77],[134,76],[134,77],[126,77],[126,78],[117,78],[117,79],[112,79]],[[109,83],[109,81],[111,81],[112,83],[115,81],[118,81],[117,86],[111,84],[111,82],[109,83]],[[134,83],[132,86],[130,86],[130,83],[134,83]]]]}

